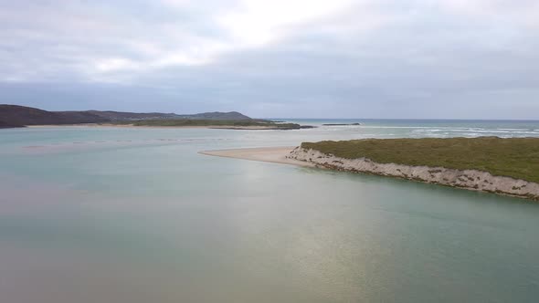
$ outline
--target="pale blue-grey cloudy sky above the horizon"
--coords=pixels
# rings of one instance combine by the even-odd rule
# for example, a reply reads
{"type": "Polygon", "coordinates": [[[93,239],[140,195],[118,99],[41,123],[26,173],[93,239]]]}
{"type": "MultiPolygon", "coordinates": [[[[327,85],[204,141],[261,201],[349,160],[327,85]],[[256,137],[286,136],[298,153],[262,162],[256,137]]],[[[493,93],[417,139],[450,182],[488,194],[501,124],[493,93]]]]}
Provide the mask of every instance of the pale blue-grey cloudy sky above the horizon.
{"type": "Polygon", "coordinates": [[[0,0],[0,103],[539,120],[539,1],[0,0]]]}

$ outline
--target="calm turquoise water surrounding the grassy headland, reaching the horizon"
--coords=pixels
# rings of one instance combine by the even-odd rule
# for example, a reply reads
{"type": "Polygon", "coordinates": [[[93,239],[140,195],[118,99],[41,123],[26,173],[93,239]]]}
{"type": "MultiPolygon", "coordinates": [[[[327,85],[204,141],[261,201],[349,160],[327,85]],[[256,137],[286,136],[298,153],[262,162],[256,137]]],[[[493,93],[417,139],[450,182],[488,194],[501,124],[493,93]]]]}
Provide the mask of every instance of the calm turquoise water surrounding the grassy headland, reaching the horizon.
{"type": "Polygon", "coordinates": [[[1,301],[536,302],[539,204],[197,153],[539,137],[534,121],[358,121],[0,130],[1,301]]]}

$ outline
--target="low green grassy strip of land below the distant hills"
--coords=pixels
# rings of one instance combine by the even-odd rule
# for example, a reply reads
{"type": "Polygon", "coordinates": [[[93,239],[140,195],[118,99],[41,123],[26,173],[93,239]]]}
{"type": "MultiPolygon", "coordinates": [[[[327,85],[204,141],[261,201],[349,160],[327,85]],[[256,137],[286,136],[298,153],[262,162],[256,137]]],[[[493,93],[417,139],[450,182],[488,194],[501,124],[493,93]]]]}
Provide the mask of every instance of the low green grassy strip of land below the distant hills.
{"type": "Polygon", "coordinates": [[[300,124],[275,123],[263,120],[191,120],[191,119],[162,119],[162,120],[134,120],[117,121],[116,124],[132,124],[134,126],[218,126],[230,128],[264,127],[277,130],[300,129],[300,124]]]}

